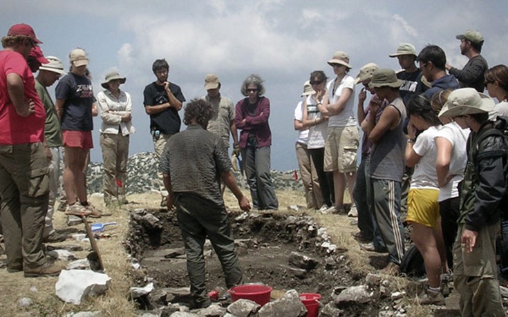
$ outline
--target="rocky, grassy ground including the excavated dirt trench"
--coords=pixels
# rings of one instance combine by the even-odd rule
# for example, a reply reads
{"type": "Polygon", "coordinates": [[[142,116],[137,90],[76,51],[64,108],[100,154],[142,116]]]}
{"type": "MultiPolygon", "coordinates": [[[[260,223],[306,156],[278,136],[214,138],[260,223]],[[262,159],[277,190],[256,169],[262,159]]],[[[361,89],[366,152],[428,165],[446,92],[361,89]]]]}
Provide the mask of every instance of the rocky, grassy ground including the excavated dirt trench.
{"type": "MultiPolygon", "coordinates": [[[[215,310],[189,312],[185,308],[189,290],[180,231],[174,213],[158,208],[154,155],[133,155],[129,175],[129,204],[104,209],[100,195],[102,168],[91,164],[88,170],[92,202],[110,213],[94,222],[117,222],[97,242],[111,277],[106,294],[72,305],[55,296],[59,278],[27,279],[22,273],[0,269],[0,316],[231,317],[235,311],[236,316],[293,317],[305,314],[300,311],[298,296],[294,301],[294,294],[301,293],[321,294],[320,316],[458,316],[456,292],[447,298],[446,307],[421,307],[417,304],[421,281],[380,274],[379,269],[386,265],[386,253],[359,248],[352,238],[357,232],[352,218],[321,215],[299,207],[304,204],[301,182],[295,181],[292,171],[272,174],[281,202],[281,209],[274,213],[241,213],[232,194],[225,193],[245,280],[273,287],[270,305],[264,310],[252,306],[247,313],[229,305],[223,273],[208,245],[207,286],[218,291],[220,300],[215,310]],[[288,307],[292,309],[286,311],[288,307]]],[[[245,186],[245,182],[242,184],[245,186]]],[[[63,213],[55,215],[55,225],[62,232],[84,233],[82,224],[68,226],[66,222],[63,213]]],[[[79,244],[81,251],[73,253],[75,258],[84,259],[90,244],[78,239],[52,244],[49,249],[70,249],[79,244]]],[[[1,256],[0,267],[4,260],[1,256]]],[[[59,260],[62,265],[70,262],[59,260]]]]}

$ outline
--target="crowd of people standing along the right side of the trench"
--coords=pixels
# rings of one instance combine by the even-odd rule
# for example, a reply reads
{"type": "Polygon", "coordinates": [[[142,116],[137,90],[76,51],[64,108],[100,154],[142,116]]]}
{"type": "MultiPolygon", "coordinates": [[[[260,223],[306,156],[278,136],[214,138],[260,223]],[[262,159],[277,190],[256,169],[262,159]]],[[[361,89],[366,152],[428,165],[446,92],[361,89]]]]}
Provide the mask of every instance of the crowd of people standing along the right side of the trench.
{"type": "Polygon", "coordinates": [[[495,240],[507,145],[487,131],[508,115],[508,68],[488,68],[480,32],[456,38],[469,59],[462,69],[446,64],[439,46],[417,53],[400,44],[390,57],[402,70],[369,63],[353,79],[348,55],[336,52],[328,64],[337,77],[326,83],[322,70],[312,72],[295,108],[297,158],[309,209],[345,213],[347,184],[358,214],[355,238],[367,251],[388,251],[385,273],[400,272],[404,223],[411,225],[428,278],[422,304],[444,305],[453,278],[462,316],[504,316],[495,240]],[[355,84],[364,86],[356,111],[355,84]]]}

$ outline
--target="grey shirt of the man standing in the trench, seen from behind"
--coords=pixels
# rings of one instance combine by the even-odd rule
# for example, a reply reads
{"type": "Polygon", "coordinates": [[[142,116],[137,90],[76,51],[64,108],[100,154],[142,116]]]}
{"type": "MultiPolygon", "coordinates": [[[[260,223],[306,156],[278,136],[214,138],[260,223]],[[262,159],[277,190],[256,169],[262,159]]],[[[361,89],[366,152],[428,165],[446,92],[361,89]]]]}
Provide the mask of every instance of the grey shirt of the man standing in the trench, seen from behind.
{"type": "Polygon", "coordinates": [[[198,125],[169,138],[160,157],[160,171],[171,177],[173,193],[191,193],[223,206],[220,173],[232,169],[227,148],[218,135],[198,125]]]}

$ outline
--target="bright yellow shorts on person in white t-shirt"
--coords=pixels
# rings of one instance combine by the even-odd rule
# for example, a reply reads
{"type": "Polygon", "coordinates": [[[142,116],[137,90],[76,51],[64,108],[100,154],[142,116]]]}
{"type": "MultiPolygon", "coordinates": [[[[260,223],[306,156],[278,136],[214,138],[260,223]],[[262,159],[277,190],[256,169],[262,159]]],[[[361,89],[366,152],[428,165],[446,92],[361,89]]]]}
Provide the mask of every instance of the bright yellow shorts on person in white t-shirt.
{"type": "Polygon", "coordinates": [[[435,228],[440,218],[439,189],[409,189],[406,221],[435,228]]]}

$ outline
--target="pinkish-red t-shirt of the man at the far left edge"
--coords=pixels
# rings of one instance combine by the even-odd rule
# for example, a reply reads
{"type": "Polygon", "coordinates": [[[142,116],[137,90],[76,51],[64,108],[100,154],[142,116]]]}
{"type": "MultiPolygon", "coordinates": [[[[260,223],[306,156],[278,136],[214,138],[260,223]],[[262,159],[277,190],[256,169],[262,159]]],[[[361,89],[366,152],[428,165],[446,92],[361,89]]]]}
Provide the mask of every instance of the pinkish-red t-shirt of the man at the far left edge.
{"type": "Polygon", "coordinates": [[[11,50],[0,50],[0,145],[36,143],[44,141],[46,111],[35,90],[35,79],[23,55],[11,50]],[[8,89],[7,75],[21,76],[25,99],[35,103],[35,114],[21,117],[16,113],[8,89]]]}

